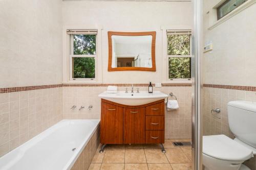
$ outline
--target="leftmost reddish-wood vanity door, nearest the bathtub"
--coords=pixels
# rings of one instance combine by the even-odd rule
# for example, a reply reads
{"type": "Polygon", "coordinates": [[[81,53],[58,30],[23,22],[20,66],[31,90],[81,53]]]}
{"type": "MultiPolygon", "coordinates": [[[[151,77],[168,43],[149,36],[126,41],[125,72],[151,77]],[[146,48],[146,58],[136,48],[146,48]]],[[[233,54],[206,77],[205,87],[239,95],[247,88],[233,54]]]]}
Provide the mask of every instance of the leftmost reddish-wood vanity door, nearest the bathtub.
{"type": "Polygon", "coordinates": [[[123,143],[123,108],[101,103],[100,142],[123,143]]]}

